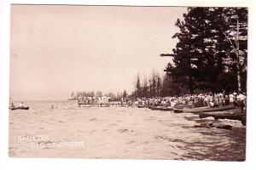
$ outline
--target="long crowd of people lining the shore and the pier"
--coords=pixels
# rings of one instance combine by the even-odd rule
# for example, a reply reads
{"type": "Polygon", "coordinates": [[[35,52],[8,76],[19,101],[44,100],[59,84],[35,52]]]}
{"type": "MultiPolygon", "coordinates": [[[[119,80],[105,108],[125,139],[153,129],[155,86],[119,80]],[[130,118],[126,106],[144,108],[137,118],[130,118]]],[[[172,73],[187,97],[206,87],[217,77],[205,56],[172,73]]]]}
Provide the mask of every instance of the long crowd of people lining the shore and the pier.
{"type": "MultiPolygon", "coordinates": [[[[79,104],[98,104],[108,105],[114,102],[108,95],[102,96],[79,96],[79,104]]],[[[174,107],[175,105],[189,105],[195,107],[216,107],[221,105],[236,105],[241,108],[241,112],[246,110],[247,96],[246,94],[237,94],[236,92],[230,94],[185,94],[182,96],[172,97],[153,97],[153,98],[137,98],[129,99],[122,98],[121,101],[116,101],[120,104],[127,104],[128,106],[145,106],[162,105],[166,107],[174,107]]]]}

